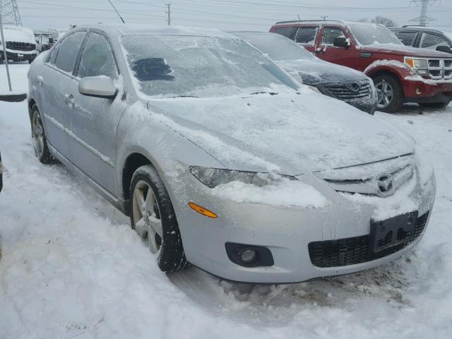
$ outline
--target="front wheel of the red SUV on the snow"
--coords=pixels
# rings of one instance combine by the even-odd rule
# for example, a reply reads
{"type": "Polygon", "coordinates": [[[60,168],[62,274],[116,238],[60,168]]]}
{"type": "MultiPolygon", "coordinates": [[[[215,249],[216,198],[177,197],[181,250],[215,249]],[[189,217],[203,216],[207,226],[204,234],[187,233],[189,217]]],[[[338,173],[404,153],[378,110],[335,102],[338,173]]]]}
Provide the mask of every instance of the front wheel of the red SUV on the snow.
{"type": "Polygon", "coordinates": [[[397,112],[403,104],[403,90],[396,78],[388,75],[376,76],[374,84],[379,95],[376,110],[397,112]]]}

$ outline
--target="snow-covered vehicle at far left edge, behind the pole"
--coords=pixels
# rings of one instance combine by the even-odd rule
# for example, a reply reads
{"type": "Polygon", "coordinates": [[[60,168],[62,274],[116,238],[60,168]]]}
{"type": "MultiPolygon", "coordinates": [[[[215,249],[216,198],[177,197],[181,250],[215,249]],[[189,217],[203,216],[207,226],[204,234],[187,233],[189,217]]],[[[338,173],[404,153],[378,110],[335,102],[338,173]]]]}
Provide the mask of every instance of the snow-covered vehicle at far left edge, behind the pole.
{"type": "MultiPolygon", "coordinates": [[[[8,60],[28,61],[31,64],[37,56],[33,31],[30,28],[16,25],[4,25],[3,30],[8,60]]],[[[3,44],[0,41],[0,63],[3,61],[3,44]]]]}

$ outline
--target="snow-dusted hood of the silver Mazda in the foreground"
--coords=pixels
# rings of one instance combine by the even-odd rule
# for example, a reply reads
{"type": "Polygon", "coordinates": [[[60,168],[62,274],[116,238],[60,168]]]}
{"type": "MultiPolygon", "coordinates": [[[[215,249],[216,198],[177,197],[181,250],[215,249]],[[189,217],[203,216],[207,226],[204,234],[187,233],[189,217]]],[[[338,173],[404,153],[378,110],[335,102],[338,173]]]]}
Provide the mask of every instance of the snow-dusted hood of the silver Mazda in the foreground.
{"type": "Polygon", "coordinates": [[[299,95],[153,100],[148,109],[228,169],[297,175],[414,149],[392,126],[309,88],[299,95]]]}

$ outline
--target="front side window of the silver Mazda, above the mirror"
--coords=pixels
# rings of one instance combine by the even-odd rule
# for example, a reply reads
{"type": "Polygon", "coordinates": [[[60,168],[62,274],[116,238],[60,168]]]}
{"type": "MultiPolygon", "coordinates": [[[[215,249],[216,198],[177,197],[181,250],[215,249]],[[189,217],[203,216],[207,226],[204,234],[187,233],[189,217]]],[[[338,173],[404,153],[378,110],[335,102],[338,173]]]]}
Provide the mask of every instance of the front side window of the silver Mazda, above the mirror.
{"type": "Polygon", "coordinates": [[[114,61],[112,48],[104,36],[90,32],[86,40],[78,67],[78,76],[108,76],[118,78],[118,70],[114,61]]]}

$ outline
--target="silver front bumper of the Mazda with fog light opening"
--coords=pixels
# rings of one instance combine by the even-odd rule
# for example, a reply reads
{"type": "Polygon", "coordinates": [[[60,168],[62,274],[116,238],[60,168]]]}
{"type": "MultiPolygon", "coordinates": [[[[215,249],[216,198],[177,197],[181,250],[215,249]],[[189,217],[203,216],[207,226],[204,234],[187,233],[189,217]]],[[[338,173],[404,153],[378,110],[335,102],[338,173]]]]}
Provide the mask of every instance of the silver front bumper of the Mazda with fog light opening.
{"type": "MultiPolygon", "coordinates": [[[[165,181],[171,180],[165,178],[165,181]]],[[[297,283],[314,278],[343,275],[388,263],[410,251],[419,237],[396,253],[347,266],[314,266],[309,244],[335,239],[361,237],[370,232],[376,206],[355,203],[331,189],[317,177],[304,176],[303,182],[316,187],[327,198],[324,208],[283,208],[257,203],[236,203],[210,194],[191,174],[184,177],[184,188],[167,185],[176,210],[186,258],[195,266],[227,280],[246,283],[297,283]],[[182,197],[182,198],[181,198],[182,197]],[[214,213],[210,219],[194,212],[189,202],[214,213]],[[273,255],[270,267],[243,267],[227,256],[226,243],[265,246],[273,255]]],[[[434,177],[429,179],[434,183],[434,177]]],[[[179,182],[179,181],[178,181],[179,182]]],[[[180,183],[180,182],[179,182],[180,183]]],[[[434,186],[434,184],[433,184],[434,186]]],[[[434,192],[417,201],[419,216],[432,209],[434,192]]]]}

